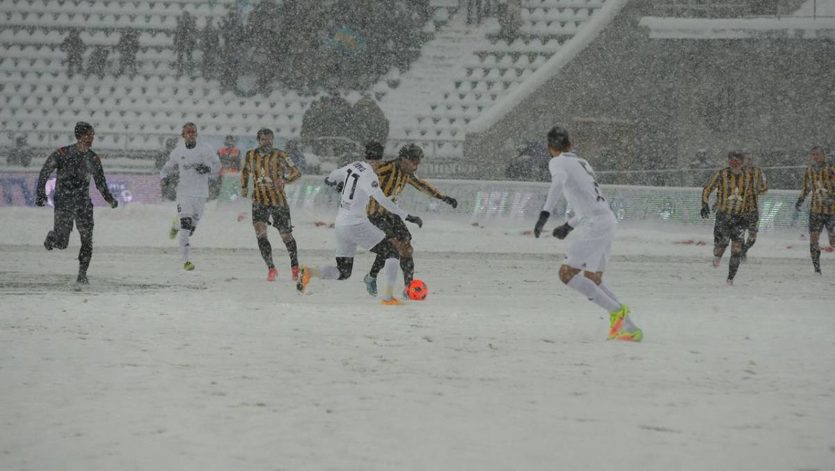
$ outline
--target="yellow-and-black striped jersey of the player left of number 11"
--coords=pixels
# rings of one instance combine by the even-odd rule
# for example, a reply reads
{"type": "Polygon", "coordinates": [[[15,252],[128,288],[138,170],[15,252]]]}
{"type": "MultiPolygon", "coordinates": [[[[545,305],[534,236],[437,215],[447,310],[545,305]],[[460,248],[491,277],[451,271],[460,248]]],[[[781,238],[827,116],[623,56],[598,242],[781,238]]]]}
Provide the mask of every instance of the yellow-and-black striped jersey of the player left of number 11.
{"type": "Polygon", "coordinates": [[[262,154],[257,148],[251,149],[244,156],[240,168],[240,186],[246,188],[252,178],[252,201],[271,206],[287,207],[287,195],[284,188],[276,188],[276,182],[284,180],[291,183],[301,177],[301,172],[287,157],[286,153],[273,149],[262,154]]]}

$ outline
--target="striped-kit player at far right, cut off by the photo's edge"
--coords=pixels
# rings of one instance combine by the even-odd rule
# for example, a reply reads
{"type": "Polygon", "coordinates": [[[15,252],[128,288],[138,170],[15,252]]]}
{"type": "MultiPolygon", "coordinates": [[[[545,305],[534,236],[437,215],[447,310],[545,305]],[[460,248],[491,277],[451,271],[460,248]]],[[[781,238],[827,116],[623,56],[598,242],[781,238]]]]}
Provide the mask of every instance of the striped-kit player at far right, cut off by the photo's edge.
{"type": "Polygon", "coordinates": [[[835,246],[835,166],[828,165],[823,149],[812,148],[812,165],[803,173],[803,187],[795,208],[800,211],[803,200],[812,193],[809,202],[809,253],[815,273],[821,274],[821,247],[818,241],[823,228],[827,229],[829,245],[835,246]]]}

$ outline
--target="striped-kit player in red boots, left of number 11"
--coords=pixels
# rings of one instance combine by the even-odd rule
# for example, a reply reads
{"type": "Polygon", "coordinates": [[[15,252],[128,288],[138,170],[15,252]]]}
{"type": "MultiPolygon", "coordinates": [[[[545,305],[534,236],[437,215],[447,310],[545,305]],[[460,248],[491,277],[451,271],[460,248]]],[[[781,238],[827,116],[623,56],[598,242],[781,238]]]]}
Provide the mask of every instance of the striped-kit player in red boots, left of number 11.
{"type": "Polygon", "coordinates": [[[301,177],[299,169],[291,162],[286,153],[272,147],[273,134],[270,129],[258,131],[258,147],[251,149],[244,156],[240,169],[240,195],[246,198],[249,182],[252,179],[252,226],[256,230],[258,248],[267,266],[267,281],[276,281],[276,265],[272,263],[272,247],[267,238],[267,224],[281,233],[281,239],[290,254],[290,268],[293,280],[299,277],[299,259],[296,239],[293,238],[293,226],[290,221],[290,208],[284,185],[301,177]]]}

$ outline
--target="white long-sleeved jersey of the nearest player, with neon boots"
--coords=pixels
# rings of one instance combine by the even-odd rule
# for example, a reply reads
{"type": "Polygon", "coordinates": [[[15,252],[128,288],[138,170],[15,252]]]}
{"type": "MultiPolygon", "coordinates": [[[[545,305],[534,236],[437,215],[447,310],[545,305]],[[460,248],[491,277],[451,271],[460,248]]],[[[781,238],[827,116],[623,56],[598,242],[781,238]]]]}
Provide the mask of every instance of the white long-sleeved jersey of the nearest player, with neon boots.
{"type": "Polygon", "coordinates": [[[576,228],[584,219],[612,213],[609,202],[603,196],[595,178],[595,171],[584,158],[573,153],[561,153],[548,163],[551,171],[551,188],[543,211],[554,213],[561,195],[574,210],[569,225],[576,228]]]}

